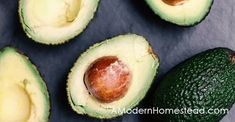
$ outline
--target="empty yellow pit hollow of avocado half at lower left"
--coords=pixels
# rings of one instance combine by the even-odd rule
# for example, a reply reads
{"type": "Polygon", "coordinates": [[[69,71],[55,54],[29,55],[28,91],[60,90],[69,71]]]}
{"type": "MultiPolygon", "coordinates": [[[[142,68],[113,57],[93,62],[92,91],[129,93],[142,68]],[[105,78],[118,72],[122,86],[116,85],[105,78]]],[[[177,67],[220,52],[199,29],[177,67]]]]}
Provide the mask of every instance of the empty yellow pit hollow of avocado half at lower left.
{"type": "Polygon", "coordinates": [[[27,91],[19,85],[0,89],[0,121],[26,122],[31,113],[31,100],[27,91]]]}

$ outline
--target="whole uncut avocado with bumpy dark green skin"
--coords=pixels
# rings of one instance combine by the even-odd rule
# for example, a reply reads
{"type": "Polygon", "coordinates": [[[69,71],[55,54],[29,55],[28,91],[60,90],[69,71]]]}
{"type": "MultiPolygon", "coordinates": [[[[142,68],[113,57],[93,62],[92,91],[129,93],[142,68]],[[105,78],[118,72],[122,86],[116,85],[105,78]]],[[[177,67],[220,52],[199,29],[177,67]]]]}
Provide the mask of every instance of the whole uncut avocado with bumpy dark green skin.
{"type": "Polygon", "coordinates": [[[235,102],[234,86],[235,52],[228,48],[204,51],[170,70],[154,93],[153,104],[158,109],[186,108],[195,113],[155,117],[164,122],[217,122],[235,102]]]}

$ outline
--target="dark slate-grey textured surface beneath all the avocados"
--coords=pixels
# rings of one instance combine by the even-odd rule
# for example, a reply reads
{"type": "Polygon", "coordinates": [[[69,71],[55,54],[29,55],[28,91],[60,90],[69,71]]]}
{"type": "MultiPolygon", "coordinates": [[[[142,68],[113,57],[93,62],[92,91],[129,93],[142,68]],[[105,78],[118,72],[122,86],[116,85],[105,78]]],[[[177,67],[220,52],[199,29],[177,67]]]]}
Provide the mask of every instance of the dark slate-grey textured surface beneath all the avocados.
{"type": "MultiPolygon", "coordinates": [[[[45,46],[26,37],[19,23],[18,0],[0,0],[0,47],[12,45],[26,53],[43,75],[51,98],[51,122],[113,121],[138,122],[148,115],[124,115],[113,120],[97,120],[77,115],[68,105],[66,78],[77,57],[92,44],[118,34],[145,36],[161,64],[158,78],[139,107],[148,106],[156,82],[170,68],[192,55],[213,47],[235,50],[235,1],[216,0],[209,16],[199,25],[177,27],[160,20],[143,0],[101,0],[88,28],[69,43],[45,46]]],[[[235,121],[235,110],[224,122],[235,121]],[[232,120],[232,118],[234,118],[232,120]]]]}

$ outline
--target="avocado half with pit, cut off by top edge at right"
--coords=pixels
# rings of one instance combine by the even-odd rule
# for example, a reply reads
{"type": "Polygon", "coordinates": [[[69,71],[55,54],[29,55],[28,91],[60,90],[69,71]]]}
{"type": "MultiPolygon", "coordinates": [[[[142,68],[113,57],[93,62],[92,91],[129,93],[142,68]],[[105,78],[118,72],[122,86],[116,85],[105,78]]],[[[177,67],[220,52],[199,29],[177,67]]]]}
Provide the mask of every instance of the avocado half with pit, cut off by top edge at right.
{"type": "Polygon", "coordinates": [[[179,26],[200,23],[210,12],[213,0],[145,0],[160,18],[179,26]]]}

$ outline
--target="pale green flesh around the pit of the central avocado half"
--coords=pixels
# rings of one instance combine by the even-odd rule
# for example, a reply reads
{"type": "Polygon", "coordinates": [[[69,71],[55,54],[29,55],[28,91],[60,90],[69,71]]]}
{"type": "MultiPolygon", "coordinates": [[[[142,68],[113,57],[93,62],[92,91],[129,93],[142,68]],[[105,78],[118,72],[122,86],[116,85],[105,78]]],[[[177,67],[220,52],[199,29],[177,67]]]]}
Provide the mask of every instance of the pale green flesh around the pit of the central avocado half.
{"type": "Polygon", "coordinates": [[[145,38],[135,34],[120,35],[91,46],[76,61],[68,76],[67,95],[73,110],[96,118],[113,118],[122,110],[135,107],[146,95],[159,66],[158,57],[145,38]],[[132,72],[131,85],[122,98],[103,103],[89,94],[84,74],[89,65],[104,56],[116,56],[132,72]]]}

